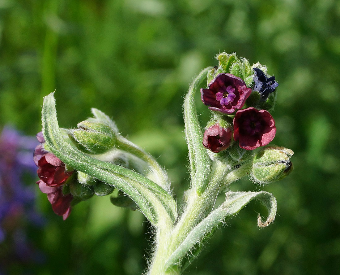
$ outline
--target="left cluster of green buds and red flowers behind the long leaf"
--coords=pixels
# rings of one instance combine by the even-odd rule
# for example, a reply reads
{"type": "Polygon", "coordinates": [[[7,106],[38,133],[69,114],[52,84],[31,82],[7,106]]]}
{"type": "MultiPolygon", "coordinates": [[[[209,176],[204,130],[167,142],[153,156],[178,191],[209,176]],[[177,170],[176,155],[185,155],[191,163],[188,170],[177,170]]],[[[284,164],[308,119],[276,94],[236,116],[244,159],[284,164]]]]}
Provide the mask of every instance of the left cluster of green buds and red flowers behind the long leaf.
{"type": "MultiPolygon", "coordinates": [[[[89,154],[104,162],[133,169],[134,171],[150,173],[148,159],[135,144],[121,137],[115,123],[104,113],[92,109],[95,117],[88,118],[75,129],[60,128],[62,136],[75,150],[89,154]]],[[[66,166],[46,146],[43,134],[37,134],[40,144],[34,151],[34,162],[38,167],[39,189],[47,194],[53,211],[65,220],[77,203],[93,196],[107,196],[114,192],[112,184],[81,171],[66,166]]],[[[119,207],[137,209],[130,197],[114,192],[111,202],[119,207]]]]}

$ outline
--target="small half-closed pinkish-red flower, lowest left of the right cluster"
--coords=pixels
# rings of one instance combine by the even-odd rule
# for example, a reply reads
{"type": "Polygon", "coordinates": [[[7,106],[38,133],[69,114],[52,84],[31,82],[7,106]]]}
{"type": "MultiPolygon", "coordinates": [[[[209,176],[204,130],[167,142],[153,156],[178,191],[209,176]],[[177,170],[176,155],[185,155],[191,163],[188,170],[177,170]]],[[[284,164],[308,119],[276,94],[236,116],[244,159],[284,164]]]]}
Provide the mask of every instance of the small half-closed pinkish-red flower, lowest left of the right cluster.
{"type": "Polygon", "coordinates": [[[219,124],[210,126],[203,135],[203,146],[214,153],[227,149],[230,145],[232,130],[219,124]]]}

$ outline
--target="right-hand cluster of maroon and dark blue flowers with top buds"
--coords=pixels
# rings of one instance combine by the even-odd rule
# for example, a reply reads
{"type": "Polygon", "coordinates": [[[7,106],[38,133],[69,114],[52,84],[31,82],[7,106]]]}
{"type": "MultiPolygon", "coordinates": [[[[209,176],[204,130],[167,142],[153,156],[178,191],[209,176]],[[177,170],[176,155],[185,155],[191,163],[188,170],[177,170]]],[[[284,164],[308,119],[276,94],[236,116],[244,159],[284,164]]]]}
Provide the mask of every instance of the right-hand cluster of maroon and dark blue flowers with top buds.
{"type": "MultiPolygon", "coordinates": [[[[219,67],[217,70],[214,68],[217,71],[216,75],[208,84],[207,89],[201,88],[202,102],[209,106],[208,108],[213,111],[214,116],[213,125],[207,127],[204,133],[203,145],[217,153],[227,149],[232,144],[233,137],[235,141],[239,142],[239,147],[245,150],[254,150],[265,146],[275,137],[275,121],[268,110],[258,109],[258,106],[275,91],[278,83],[274,76],[267,77],[260,68],[255,67],[260,64],[254,64],[250,70],[251,66],[247,64],[248,60],[242,59],[244,67],[240,70],[240,62],[236,56],[224,55],[229,56],[229,60],[218,58],[219,67]],[[237,62],[235,64],[238,65],[238,71],[243,73],[231,74],[238,72],[234,69],[231,56],[234,58],[234,62],[237,62]],[[242,77],[248,82],[252,77],[253,81],[249,87],[242,77]],[[251,99],[253,92],[259,94],[259,98],[255,95],[251,99]],[[249,101],[247,101],[248,98],[249,101]],[[257,100],[254,101],[254,98],[257,100]],[[231,126],[227,128],[220,126],[220,122],[225,124],[224,122],[231,122],[231,119],[231,126]]],[[[260,67],[266,70],[264,66],[260,67]]],[[[208,76],[211,76],[211,72],[208,76]]]]}

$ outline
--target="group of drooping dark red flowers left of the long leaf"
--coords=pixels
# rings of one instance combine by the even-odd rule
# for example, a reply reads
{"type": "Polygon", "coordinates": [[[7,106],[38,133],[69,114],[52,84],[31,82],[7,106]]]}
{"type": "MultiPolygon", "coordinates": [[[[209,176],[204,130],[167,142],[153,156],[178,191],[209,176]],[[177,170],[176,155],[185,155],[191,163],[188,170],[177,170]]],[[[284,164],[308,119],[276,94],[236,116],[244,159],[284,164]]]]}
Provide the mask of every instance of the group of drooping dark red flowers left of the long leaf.
{"type": "Polygon", "coordinates": [[[47,194],[55,214],[63,216],[65,220],[71,211],[72,195],[64,195],[62,185],[70,177],[73,171],[66,172],[65,164],[51,152],[44,149],[45,139],[42,133],[37,134],[40,143],[33,154],[34,163],[38,166],[39,181],[37,184],[41,192],[47,194]]]}

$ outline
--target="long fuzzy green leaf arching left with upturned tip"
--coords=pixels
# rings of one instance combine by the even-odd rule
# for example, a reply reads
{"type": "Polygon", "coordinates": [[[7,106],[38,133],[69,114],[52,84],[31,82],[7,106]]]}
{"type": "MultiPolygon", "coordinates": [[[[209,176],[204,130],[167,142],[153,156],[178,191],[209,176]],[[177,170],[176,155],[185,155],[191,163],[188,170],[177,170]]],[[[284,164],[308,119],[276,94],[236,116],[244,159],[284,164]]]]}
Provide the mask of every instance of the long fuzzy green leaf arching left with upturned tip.
{"type": "Polygon", "coordinates": [[[139,173],[90,157],[64,140],[58,126],[54,93],[44,98],[42,121],[47,146],[61,161],[129,195],[154,226],[174,222],[176,202],[162,187],[139,173]]]}

